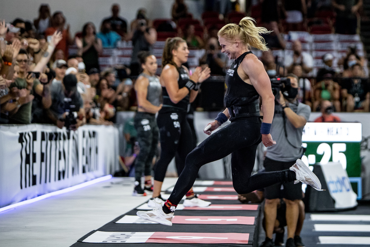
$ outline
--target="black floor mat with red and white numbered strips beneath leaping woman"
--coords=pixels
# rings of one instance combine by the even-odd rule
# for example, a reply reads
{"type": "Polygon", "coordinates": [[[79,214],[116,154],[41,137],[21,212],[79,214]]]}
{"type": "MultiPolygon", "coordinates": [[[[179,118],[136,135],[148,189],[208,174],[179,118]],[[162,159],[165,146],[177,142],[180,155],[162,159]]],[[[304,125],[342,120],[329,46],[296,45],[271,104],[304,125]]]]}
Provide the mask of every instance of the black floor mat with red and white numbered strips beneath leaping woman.
{"type": "MultiPolygon", "coordinates": [[[[163,197],[168,197],[172,189],[167,189],[163,197]]],[[[172,226],[139,218],[138,210],[152,209],[144,203],[96,230],[91,229],[71,247],[257,246],[259,204],[240,203],[231,181],[196,181],[194,191],[212,204],[184,207],[182,200],[172,226]]]]}

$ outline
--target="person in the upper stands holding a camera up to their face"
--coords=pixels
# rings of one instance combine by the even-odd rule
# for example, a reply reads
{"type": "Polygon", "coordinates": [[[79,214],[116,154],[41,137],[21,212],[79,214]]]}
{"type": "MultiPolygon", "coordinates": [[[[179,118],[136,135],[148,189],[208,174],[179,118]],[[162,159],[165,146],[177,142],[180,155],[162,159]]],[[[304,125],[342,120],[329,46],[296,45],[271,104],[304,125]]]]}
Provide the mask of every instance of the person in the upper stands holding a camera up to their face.
{"type": "Polygon", "coordinates": [[[152,27],[148,27],[145,19],[138,19],[136,23],[133,23],[131,32],[127,38],[132,40],[131,76],[138,76],[141,72],[138,53],[139,51],[151,52],[152,45],[157,41],[157,31],[152,27]]]}

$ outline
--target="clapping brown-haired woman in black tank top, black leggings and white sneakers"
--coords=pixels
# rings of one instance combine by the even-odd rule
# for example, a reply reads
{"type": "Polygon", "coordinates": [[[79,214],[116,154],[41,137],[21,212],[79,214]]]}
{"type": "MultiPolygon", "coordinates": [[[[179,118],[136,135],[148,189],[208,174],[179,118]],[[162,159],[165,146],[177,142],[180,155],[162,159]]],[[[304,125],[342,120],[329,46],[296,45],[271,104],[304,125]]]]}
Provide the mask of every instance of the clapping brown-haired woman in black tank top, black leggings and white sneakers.
{"type": "MultiPolygon", "coordinates": [[[[211,70],[207,67],[202,71],[201,67],[197,67],[189,76],[188,69],[182,65],[188,61],[188,55],[189,50],[185,40],[179,37],[166,40],[162,56],[163,68],[159,78],[162,84],[163,106],[157,117],[161,156],[154,167],[153,195],[148,202],[149,207],[156,206],[154,198],[158,203],[164,203],[160,194],[162,183],[168,164],[175,157],[176,151],[182,160],[181,164],[185,164],[186,156],[195,148],[186,113],[189,111],[190,103],[198,95],[201,83],[209,77],[211,70]]],[[[178,167],[178,174],[183,168],[178,167]]],[[[190,188],[191,186],[186,191],[188,193],[185,205],[208,206],[211,204],[197,198],[190,188]]]]}

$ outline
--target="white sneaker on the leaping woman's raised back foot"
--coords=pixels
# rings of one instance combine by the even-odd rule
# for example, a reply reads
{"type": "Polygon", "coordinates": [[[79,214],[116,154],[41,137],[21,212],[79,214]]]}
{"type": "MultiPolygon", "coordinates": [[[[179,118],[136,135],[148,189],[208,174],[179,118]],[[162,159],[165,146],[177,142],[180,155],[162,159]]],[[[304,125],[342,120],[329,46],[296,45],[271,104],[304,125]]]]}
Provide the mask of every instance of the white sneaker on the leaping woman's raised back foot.
{"type": "Polygon", "coordinates": [[[296,163],[289,168],[289,170],[296,173],[297,180],[294,181],[295,184],[302,182],[312,186],[315,190],[322,191],[321,183],[319,178],[303,163],[302,160],[297,159],[296,163]]]}

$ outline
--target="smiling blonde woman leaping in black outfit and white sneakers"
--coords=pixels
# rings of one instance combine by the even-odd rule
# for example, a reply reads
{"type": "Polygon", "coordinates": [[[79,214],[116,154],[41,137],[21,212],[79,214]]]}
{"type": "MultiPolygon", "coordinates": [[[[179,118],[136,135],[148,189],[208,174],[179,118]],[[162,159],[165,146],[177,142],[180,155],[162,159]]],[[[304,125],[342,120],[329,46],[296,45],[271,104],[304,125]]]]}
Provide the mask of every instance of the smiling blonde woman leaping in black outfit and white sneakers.
{"type": "Polygon", "coordinates": [[[215,121],[207,124],[208,130],[204,132],[210,135],[227,120],[231,124],[209,136],[188,154],[185,168],[164,206],[151,211],[138,211],[139,217],[171,226],[174,210],[194,184],[199,168],[230,153],[233,186],[238,194],[291,181],[301,181],[317,190],[321,189],[319,179],[301,160],[287,170],[250,176],[261,140],[266,147],[276,144],[270,135],[275,96],[262,62],[250,51],[250,47],[268,50],[259,34],[269,31],[256,27],[253,21],[250,17],[244,17],[239,24],[227,24],[218,31],[221,51],[229,59],[235,60],[226,73],[228,89],[224,103],[227,108],[218,114],[215,121]],[[259,97],[262,98],[263,123],[259,118],[259,97]]]}

